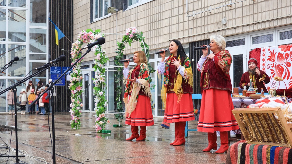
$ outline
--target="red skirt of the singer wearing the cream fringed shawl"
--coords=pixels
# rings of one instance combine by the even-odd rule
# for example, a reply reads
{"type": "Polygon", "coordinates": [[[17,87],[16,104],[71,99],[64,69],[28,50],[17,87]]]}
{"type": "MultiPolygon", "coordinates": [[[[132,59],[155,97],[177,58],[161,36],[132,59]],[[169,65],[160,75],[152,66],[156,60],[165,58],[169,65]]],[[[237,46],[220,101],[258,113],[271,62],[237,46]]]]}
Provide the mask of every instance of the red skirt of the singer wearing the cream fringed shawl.
{"type": "Polygon", "coordinates": [[[125,124],[132,126],[154,125],[150,97],[146,95],[138,96],[137,106],[130,117],[126,117],[125,124]]]}

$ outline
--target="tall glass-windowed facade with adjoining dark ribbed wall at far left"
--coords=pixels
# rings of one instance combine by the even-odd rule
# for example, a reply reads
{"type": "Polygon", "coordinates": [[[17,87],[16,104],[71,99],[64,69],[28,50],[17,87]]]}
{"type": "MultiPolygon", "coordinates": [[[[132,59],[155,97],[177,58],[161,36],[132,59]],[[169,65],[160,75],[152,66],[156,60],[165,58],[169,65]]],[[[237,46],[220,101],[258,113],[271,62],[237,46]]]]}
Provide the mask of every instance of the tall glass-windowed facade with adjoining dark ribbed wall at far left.
{"type": "MultiPolygon", "coordinates": [[[[55,45],[55,27],[48,18],[54,21],[61,31],[68,37],[63,38],[60,46],[71,49],[73,33],[73,1],[51,2],[48,0],[1,0],[0,1],[0,69],[18,56],[19,60],[13,62],[3,73],[1,72],[1,91],[20,81],[25,76],[33,74],[33,69],[56,59],[61,55],[59,47],[55,45]],[[62,11],[63,13],[61,13],[62,11]],[[53,40],[52,40],[53,39],[53,40]],[[69,41],[71,39],[71,41],[69,41]]],[[[65,51],[64,51],[65,52],[65,51]]],[[[58,66],[70,66],[70,57],[58,66]]],[[[34,76],[18,85],[17,95],[22,88],[26,88],[28,81],[32,80],[34,86],[38,81],[44,85],[48,83],[50,72],[48,70],[34,76]]],[[[68,86],[68,85],[67,85],[68,86]]],[[[69,95],[67,86],[57,86],[57,95],[69,95]]],[[[0,112],[7,112],[7,93],[0,95],[0,112]]],[[[67,99],[57,96],[56,111],[69,111],[67,99]],[[66,102],[66,104],[64,103],[66,102]],[[66,109],[67,108],[67,109],[66,109]]],[[[18,101],[18,100],[17,100],[18,101]]],[[[19,105],[17,103],[17,105],[19,105]]]]}

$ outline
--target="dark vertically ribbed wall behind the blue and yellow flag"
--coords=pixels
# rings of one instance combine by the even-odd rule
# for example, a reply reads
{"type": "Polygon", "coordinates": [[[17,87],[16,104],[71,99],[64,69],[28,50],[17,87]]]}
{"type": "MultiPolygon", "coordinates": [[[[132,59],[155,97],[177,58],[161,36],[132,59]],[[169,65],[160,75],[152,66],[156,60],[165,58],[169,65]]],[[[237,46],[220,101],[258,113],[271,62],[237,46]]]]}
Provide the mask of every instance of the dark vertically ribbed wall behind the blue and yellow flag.
{"type": "MultiPolygon", "coordinates": [[[[64,1],[49,1],[49,17],[65,34],[65,37],[59,40],[59,46],[55,43],[55,27],[51,22],[48,22],[49,27],[49,61],[58,58],[60,55],[66,55],[66,60],[58,63],[59,67],[71,66],[70,50],[73,41],[73,0],[64,1]],[[64,48],[64,51],[60,51],[64,48]]],[[[50,77],[50,75],[48,76],[50,77]]],[[[44,82],[47,84],[48,81],[44,82]]],[[[55,86],[55,112],[67,112],[70,110],[69,104],[71,92],[68,89],[70,81],[65,80],[65,86],[55,86]]]]}

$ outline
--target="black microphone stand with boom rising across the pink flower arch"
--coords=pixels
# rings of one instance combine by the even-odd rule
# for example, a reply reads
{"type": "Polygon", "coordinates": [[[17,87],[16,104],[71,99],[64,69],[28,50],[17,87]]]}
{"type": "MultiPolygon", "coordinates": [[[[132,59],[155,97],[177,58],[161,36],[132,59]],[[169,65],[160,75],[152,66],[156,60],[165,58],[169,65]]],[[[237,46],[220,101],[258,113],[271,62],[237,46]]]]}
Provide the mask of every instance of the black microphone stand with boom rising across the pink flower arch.
{"type": "MultiPolygon", "coordinates": [[[[64,76],[71,68],[73,68],[87,53],[89,53],[91,51],[91,48],[88,48],[88,50],[86,50],[86,53],[84,53],[78,60],[76,60],[76,62],[74,62],[71,67],[69,67],[57,80],[55,80],[55,82],[51,83],[51,85],[41,94],[39,95],[39,97],[34,100],[32,103],[30,103],[28,105],[28,107],[31,107],[32,105],[34,105],[37,100],[39,100],[39,98],[44,95],[48,90],[51,90],[51,93],[54,91],[53,86],[60,80],[60,78],[62,78],[62,76],[64,76]],[[51,89],[53,88],[53,89],[51,89]]],[[[51,98],[51,104],[55,104],[55,100],[53,100],[51,98]]],[[[55,113],[55,108],[52,106],[52,135],[53,135],[53,163],[56,164],[56,152],[55,152],[55,119],[54,119],[54,113],[55,113]]]]}

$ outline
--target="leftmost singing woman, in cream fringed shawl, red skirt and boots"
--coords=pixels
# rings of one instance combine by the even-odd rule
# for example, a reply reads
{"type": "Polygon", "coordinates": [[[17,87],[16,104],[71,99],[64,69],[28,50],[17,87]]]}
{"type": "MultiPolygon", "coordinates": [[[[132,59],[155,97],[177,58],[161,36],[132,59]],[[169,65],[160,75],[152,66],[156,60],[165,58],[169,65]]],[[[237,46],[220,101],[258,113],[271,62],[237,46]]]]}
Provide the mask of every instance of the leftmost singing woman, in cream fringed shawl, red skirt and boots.
{"type": "MultiPolygon", "coordinates": [[[[127,59],[129,60],[129,59],[127,59]]],[[[147,67],[147,57],[143,51],[135,51],[133,62],[135,67],[129,71],[129,62],[124,62],[124,77],[126,80],[126,90],[124,102],[126,107],[125,123],[131,125],[132,135],[126,140],[145,141],[146,126],[154,125],[151,93],[150,93],[150,72],[147,67]],[[139,129],[140,126],[140,136],[139,129]]]]}

